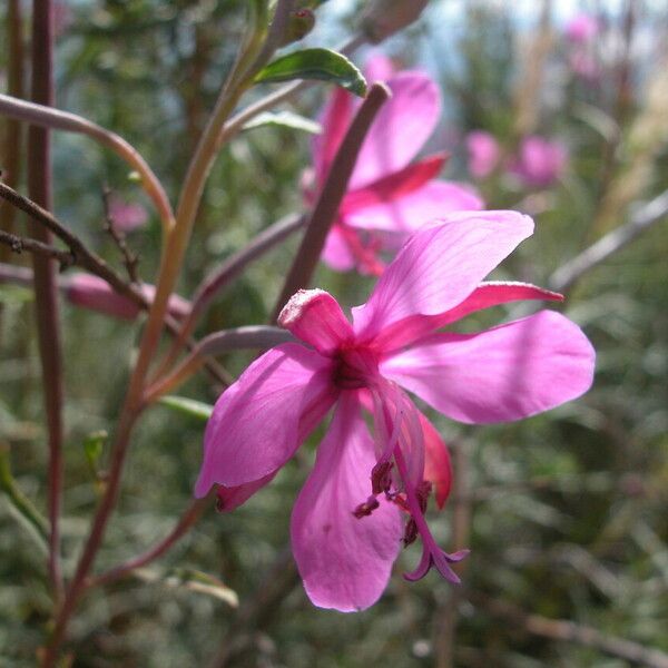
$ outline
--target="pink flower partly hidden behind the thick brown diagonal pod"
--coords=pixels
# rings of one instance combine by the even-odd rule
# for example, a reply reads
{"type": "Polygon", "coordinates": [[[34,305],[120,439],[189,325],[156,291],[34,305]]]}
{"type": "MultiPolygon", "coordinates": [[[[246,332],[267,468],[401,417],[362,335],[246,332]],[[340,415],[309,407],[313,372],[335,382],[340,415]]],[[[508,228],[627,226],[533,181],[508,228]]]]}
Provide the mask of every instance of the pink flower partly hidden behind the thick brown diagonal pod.
{"type": "MultiPolygon", "coordinates": [[[[375,57],[370,79],[387,76],[392,63],[375,57]]],[[[396,249],[406,238],[452,210],[480,209],[482,202],[470,186],[438,180],[445,155],[411,163],[433,132],[441,114],[436,85],[426,75],[405,71],[387,79],[392,98],[374,121],[348,184],[340,215],[327,237],[324,262],[333,269],[353,268],[380,275],[381,249],[396,249]]],[[[351,122],[355,102],[337,89],[325,107],[323,134],[313,141],[314,184],[305,193],[313,203],[351,122]]]]}

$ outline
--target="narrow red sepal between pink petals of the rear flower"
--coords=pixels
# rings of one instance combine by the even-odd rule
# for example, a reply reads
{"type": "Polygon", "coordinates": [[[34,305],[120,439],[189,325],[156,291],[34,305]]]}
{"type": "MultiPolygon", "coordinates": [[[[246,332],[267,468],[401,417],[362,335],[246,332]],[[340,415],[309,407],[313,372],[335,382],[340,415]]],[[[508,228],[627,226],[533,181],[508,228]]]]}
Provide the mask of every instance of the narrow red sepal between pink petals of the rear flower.
{"type": "Polygon", "coordinates": [[[446,154],[430,156],[419,163],[404,167],[401,171],[390,174],[365,188],[347,193],[341,204],[340,214],[345,216],[354,213],[356,209],[371,207],[376,204],[387,204],[422,188],[438,176],[446,159],[446,154]]]}

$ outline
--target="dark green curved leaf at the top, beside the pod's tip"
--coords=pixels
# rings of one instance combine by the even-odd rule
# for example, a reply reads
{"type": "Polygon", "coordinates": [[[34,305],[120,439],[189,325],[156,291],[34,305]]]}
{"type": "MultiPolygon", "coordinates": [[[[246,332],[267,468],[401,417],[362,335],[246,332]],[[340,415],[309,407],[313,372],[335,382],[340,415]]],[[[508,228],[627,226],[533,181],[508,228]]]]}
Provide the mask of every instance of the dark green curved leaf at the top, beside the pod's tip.
{"type": "Polygon", "coordinates": [[[360,97],[366,95],[366,80],[345,57],[331,49],[303,49],[269,62],[255,77],[256,84],[293,79],[318,79],[336,84],[360,97]]]}

